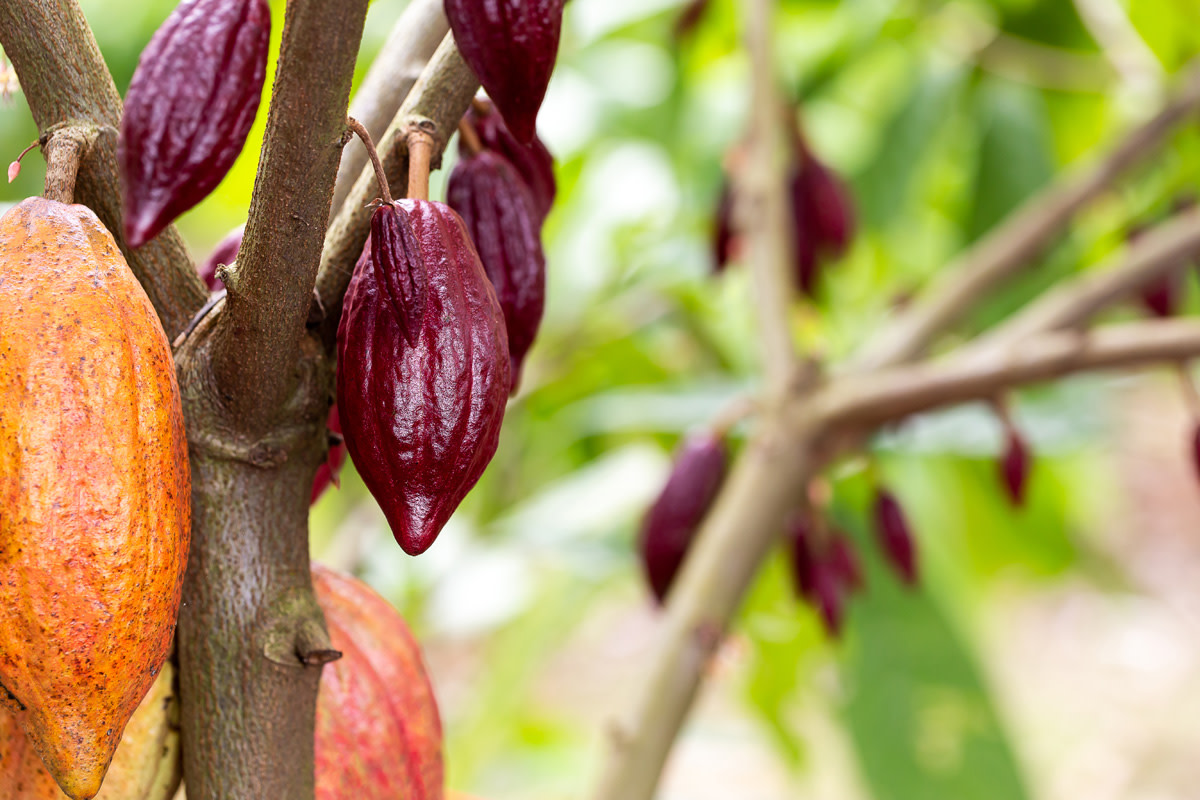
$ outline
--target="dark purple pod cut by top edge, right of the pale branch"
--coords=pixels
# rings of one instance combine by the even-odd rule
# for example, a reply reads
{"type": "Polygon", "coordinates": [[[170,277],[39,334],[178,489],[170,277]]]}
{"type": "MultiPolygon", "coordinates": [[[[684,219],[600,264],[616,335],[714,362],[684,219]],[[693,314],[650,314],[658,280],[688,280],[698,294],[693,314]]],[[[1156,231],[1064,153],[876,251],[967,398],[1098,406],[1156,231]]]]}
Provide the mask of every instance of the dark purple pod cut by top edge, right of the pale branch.
{"type": "Polygon", "coordinates": [[[564,0],[445,0],[463,60],[518,142],[533,142],[558,58],[564,0]]]}

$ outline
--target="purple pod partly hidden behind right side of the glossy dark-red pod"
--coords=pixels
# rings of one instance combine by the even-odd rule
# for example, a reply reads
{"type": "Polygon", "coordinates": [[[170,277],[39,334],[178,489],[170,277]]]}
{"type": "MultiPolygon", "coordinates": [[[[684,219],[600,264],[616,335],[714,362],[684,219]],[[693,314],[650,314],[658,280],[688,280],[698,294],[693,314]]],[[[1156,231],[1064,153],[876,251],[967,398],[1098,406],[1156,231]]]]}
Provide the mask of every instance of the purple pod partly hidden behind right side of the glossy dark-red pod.
{"type": "Polygon", "coordinates": [[[486,150],[455,164],[446,204],[466,223],[504,311],[515,392],[546,302],[541,221],[516,169],[486,150]]]}

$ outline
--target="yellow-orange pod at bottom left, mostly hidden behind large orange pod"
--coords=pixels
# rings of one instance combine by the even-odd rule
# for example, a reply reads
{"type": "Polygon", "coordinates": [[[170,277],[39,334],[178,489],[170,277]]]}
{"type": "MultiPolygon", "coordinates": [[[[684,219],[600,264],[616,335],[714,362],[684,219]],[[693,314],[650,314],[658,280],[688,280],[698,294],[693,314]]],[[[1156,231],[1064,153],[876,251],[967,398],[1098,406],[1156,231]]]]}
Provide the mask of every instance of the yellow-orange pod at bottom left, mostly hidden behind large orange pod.
{"type": "MultiPolygon", "coordinates": [[[[175,670],[163,664],[158,679],[125,726],[121,744],[96,800],[172,800],[182,778],[175,670]]],[[[65,800],[20,726],[26,712],[0,708],[0,798],[65,800]]]]}

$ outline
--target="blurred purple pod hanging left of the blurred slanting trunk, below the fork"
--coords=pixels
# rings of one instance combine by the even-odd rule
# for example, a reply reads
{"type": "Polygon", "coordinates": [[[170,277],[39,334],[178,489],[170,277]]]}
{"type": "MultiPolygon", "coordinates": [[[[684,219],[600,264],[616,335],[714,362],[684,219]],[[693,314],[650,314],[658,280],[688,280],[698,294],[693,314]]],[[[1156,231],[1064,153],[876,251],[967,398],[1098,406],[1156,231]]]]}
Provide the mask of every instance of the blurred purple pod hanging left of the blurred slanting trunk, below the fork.
{"type": "Polygon", "coordinates": [[[727,461],[725,443],[714,434],[689,437],[676,456],[666,486],[642,519],[642,567],[660,603],[716,499],[727,461]]]}

